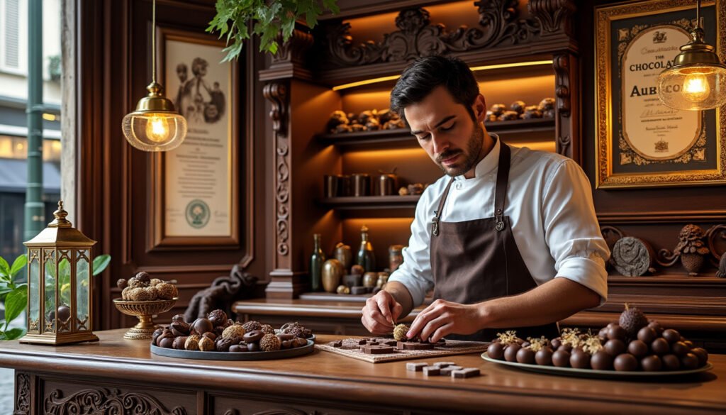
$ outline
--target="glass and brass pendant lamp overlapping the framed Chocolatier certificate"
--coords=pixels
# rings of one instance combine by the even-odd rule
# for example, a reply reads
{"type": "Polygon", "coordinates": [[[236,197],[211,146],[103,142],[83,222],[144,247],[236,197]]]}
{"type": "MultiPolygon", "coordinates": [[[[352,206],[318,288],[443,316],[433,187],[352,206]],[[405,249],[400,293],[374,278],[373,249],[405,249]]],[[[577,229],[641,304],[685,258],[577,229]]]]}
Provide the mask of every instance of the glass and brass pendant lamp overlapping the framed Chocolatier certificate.
{"type": "Polygon", "coordinates": [[[703,41],[701,0],[696,5],[696,26],[688,44],[680,47],[673,65],[658,76],[658,97],[677,110],[710,110],[726,104],[726,65],[714,47],[703,41]]]}

